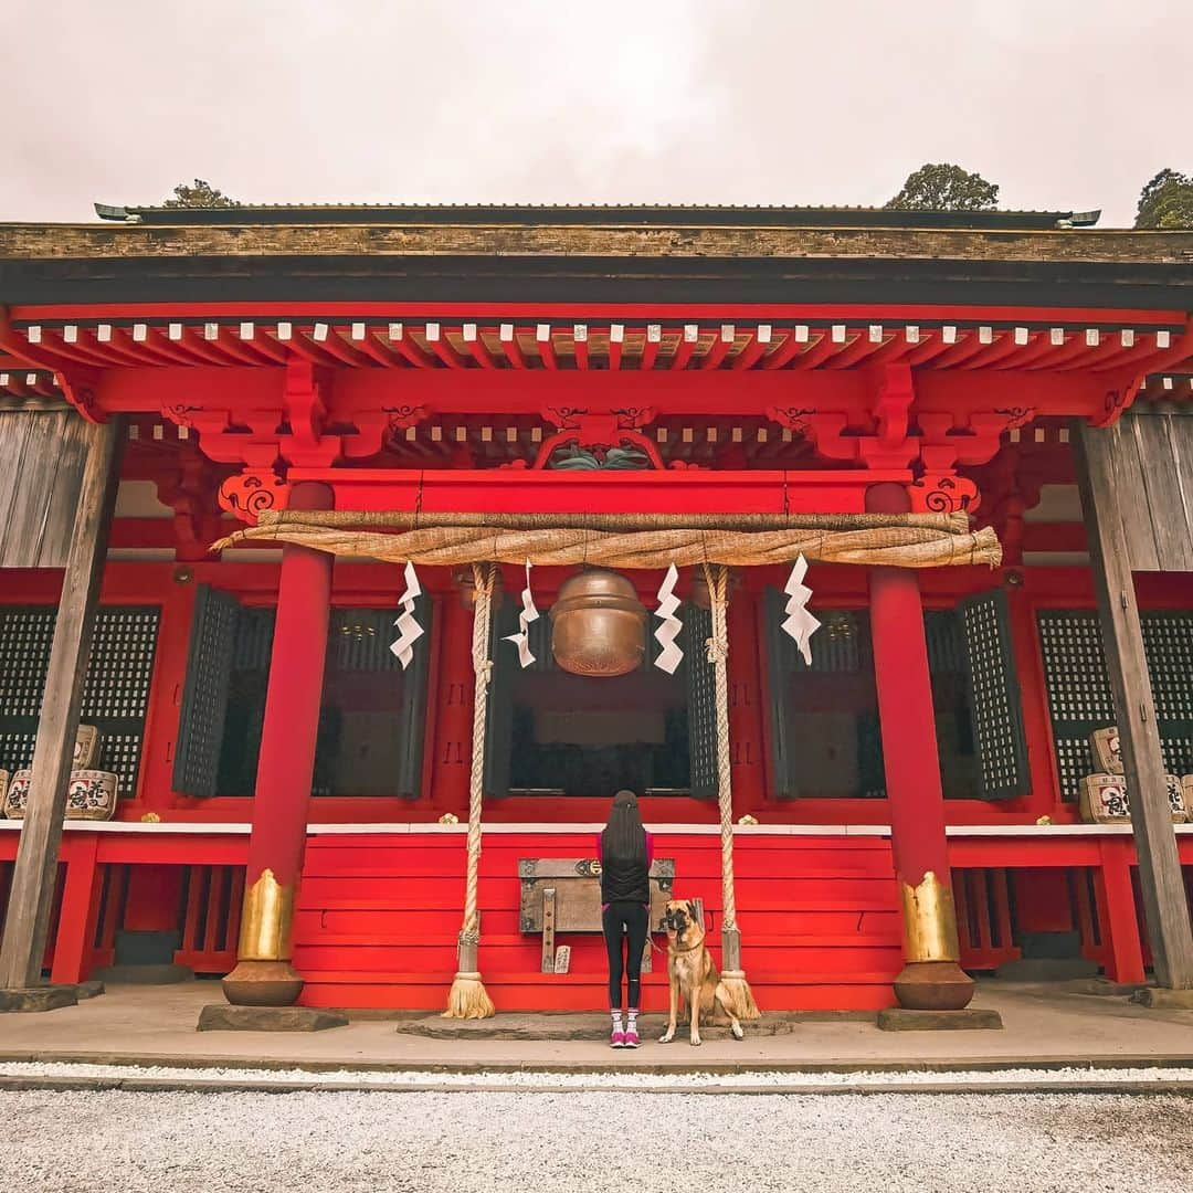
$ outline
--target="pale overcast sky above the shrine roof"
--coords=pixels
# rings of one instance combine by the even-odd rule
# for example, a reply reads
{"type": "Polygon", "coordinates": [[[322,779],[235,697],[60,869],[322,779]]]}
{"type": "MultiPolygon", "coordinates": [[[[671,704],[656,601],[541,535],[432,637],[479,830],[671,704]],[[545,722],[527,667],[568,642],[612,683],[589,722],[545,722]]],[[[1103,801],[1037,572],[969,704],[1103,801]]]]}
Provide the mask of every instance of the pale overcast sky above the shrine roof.
{"type": "Polygon", "coordinates": [[[926,161],[1130,224],[1191,0],[0,0],[0,220],[245,202],[880,204],[926,161]]]}

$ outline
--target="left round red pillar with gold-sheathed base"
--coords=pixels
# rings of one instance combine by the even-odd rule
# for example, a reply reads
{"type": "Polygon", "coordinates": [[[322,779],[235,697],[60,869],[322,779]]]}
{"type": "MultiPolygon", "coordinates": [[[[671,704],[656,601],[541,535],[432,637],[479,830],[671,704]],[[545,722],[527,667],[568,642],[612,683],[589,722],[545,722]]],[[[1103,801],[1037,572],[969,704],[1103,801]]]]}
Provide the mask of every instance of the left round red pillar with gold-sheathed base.
{"type": "MultiPolygon", "coordinates": [[[[332,493],[322,484],[297,484],[290,495],[291,509],[330,506],[332,493]]],[[[228,1001],[242,1006],[289,1006],[302,991],[290,929],[307,843],[330,599],[332,556],[284,546],[240,947],[223,982],[228,1001]]]]}

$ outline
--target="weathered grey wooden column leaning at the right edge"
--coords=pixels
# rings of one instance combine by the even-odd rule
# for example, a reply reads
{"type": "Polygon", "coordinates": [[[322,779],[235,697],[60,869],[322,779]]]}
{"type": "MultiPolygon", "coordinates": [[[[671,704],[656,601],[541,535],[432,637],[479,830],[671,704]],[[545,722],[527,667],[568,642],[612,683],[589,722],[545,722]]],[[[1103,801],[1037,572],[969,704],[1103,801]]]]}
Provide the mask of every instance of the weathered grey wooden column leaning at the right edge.
{"type": "MultiPolygon", "coordinates": [[[[1114,693],[1123,771],[1131,796],[1131,828],[1139,855],[1139,885],[1158,985],[1193,989],[1193,933],[1168,803],[1160,728],[1143,650],[1143,630],[1131,573],[1131,544],[1120,502],[1146,501],[1120,493],[1108,432],[1078,422],[1074,437],[1077,486],[1098,592],[1106,669],[1114,693]]],[[[1157,511],[1163,514],[1163,511],[1157,511]]],[[[1175,511],[1173,512],[1175,518],[1175,511]]],[[[1155,518],[1154,525],[1162,525],[1155,518]]],[[[1176,527],[1175,530],[1183,530],[1176,527]]]]}

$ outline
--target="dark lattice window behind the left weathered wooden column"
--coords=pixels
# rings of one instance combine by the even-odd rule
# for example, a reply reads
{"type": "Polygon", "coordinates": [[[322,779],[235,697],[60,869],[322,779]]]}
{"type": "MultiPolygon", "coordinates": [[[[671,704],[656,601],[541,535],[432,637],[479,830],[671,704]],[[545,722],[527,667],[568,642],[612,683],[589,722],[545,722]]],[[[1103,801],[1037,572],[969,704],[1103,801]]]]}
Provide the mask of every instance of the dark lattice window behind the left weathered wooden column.
{"type": "MultiPolygon", "coordinates": [[[[33,761],[42,690],[54,642],[52,605],[0,606],[0,769],[33,761]]],[[[160,610],[105,605],[95,616],[79,719],[99,729],[98,768],[136,792],[160,610]]]]}

